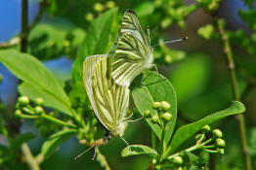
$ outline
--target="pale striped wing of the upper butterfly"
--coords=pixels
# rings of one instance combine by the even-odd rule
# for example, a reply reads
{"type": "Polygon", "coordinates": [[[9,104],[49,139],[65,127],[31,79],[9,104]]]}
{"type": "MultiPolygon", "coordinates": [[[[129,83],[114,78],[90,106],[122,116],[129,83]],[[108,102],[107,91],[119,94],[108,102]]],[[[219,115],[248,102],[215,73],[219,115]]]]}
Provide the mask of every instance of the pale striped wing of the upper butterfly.
{"type": "Polygon", "coordinates": [[[152,66],[152,53],[136,14],[127,10],[117,40],[111,76],[118,85],[130,85],[142,71],[152,66]]]}

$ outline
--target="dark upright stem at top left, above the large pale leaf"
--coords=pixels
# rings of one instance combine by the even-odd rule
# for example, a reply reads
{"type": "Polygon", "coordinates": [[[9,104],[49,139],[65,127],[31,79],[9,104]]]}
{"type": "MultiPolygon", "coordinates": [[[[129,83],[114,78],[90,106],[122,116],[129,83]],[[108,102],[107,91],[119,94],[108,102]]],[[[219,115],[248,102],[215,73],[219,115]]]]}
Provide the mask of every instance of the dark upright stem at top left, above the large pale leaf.
{"type": "Polygon", "coordinates": [[[26,51],[28,32],[28,0],[22,0],[21,6],[21,51],[26,51]]]}

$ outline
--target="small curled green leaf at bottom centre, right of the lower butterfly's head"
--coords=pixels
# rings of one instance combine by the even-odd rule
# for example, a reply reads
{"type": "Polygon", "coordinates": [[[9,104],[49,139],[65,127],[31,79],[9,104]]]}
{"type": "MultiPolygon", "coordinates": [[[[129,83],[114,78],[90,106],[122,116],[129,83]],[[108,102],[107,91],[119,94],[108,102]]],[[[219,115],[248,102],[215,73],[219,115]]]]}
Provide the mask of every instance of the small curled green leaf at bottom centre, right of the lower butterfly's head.
{"type": "Polygon", "coordinates": [[[129,156],[129,155],[137,155],[137,154],[148,154],[157,156],[158,154],[151,148],[143,145],[131,145],[123,149],[121,155],[129,156]]]}

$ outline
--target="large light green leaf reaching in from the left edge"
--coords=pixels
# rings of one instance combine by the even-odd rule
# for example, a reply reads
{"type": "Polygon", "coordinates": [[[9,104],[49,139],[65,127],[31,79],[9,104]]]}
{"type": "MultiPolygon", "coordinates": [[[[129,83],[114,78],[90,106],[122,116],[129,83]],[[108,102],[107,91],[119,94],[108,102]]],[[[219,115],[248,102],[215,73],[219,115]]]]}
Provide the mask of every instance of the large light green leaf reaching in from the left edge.
{"type": "MultiPolygon", "coordinates": [[[[41,94],[51,96],[56,101],[64,105],[64,114],[71,115],[71,104],[66,96],[63,87],[56,80],[54,75],[35,57],[18,51],[0,51],[0,61],[24,83],[40,89],[41,94]]],[[[27,90],[26,90],[27,91],[27,90]]],[[[31,90],[33,91],[33,90],[31,90]]],[[[39,94],[39,93],[37,93],[39,94]]],[[[30,96],[34,94],[30,93],[30,96]]],[[[38,96],[45,97],[45,95],[38,96]]]]}

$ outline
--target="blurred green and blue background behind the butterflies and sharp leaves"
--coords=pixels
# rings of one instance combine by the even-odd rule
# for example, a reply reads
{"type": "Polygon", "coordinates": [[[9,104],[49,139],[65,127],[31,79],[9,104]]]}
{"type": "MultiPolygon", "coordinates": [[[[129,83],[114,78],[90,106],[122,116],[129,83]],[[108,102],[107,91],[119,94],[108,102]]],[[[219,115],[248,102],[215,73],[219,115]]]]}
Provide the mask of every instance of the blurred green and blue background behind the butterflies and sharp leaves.
{"type": "MultiPolygon", "coordinates": [[[[255,1],[251,2],[254,9],[252,13],[255,14],[255,1]]],[[[159,72],[175,87],[178,98],[178,125],[182,125],[205,117],[205,113],[225,109],[233,100],[230,73],[222,43],[213,33],[216,31],[212,28],[213,17],[203,8],[187,9],[196,3],[198,2],[192,0],[53,0],[49,2],[40,22],[29,34],[28,51],[42,60],[64,85],[71,78],[73,59],[94,18],[107,9],[118,7],[118,22],[113,30],[116,34],[125,10],[133,9],[145,31],[149,25],[151,45],[160,44],[154,51],[155,63],[159,72]],[[186,36],[189,40],[185,42],[166,45],[161,43],[186,36]]],[[[29,0],[30,23],[40,10],[38,4],[39,1],[29,0]]],[[[241,93],[249,85],[248,77],[256,79],[255,41],[252,41],[253,45],[248,45],[246,40],[246,37],[250,39],[253,36],[254,40],[256,39],[256,24],[255,21],[248,21],[242,18],[242,15],[238,15],[239,10],[246,11],[249,8],[241,0],[223,0],[218,10],[214,12],[214,15],[226,19],[227,30],[235,31],[231,32],[233,34],[231,43],[241,93]],[[242,38],[235,36],[239,33],[242,38]],[[252,49],[249,49],[250,47],[252,49]]],[[[0,42],[7,42],[20,32],[20,0],[0,1],[0,25],[0,42]]],[[[0,64],[0,74],[3,77],[0,97],[8,108],[8,114],[13,114],[19,81],[2,64],[0,64]]],[[[249,152],[253,166],[256,168],[256,89],[251,88],[243,96],[249,152]]],[[[227,148],[224,155],[212,156],[210,169],[244,169],[235,118],[223,119],[214,126],[223,130],[227,148]]],[[[39,135],[32,120],[25,120],[22,123],[21,133],[25,132],[35,134],[36,137],[30,140],[28,145],[32,153],[39,153],[45,138],[39,135]]],[[[142,121],[131,122],[124,138],[129,144],[149,145],[149,128],[142,121]]],[[[1,135],[0,143],[5,143],[1,135]]],[[[107,146],[100,147],[112,169],[148,168],[147,156],[121,157],[120,152],[124,147],[125,144],[119,138],[112,140],[107,146]]],[[[77,139],[71,138],[57,153],[43,162],[42,169],[101,169],[99,163],[91,159],[93,151],[84,154],[77,161],[73,160],[73,157],[83,150],[84,147],[79,145],[77,139]]],[[[25,169],[25,166],[20,168],[25,169]]]]}

